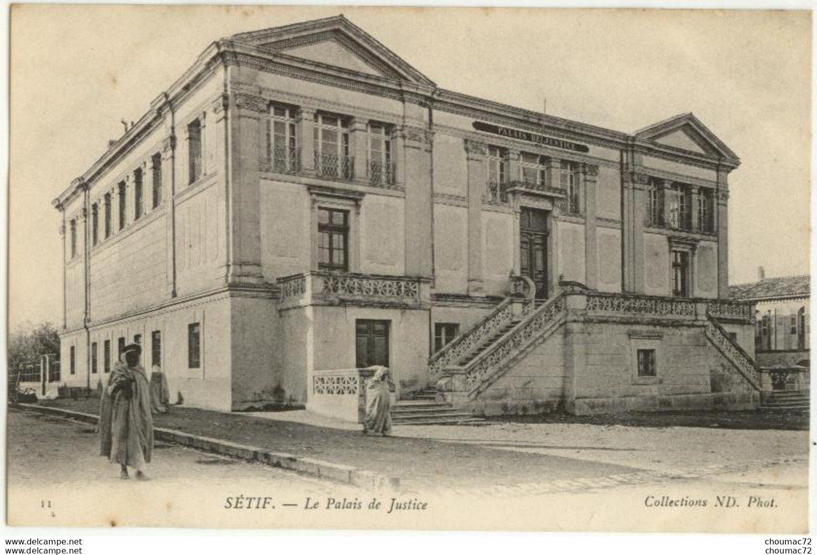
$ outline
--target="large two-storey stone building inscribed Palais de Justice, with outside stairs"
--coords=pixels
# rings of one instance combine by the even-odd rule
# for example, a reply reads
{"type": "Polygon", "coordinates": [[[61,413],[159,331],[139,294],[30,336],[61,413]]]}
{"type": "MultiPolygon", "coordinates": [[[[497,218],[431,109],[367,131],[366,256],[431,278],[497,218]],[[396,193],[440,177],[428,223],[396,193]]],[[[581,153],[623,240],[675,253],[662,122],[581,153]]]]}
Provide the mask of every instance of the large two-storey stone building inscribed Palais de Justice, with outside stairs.
{"type": "MultiPolygon", "coordinates": [[[[145,69],[146,70],[146,69],[145,69]]],[[[213,42],[54,201],[63,379],[144,345],[185,404],[755,406],[728,300],[739,159],[447,91],[344,17],[213,42]]]]}

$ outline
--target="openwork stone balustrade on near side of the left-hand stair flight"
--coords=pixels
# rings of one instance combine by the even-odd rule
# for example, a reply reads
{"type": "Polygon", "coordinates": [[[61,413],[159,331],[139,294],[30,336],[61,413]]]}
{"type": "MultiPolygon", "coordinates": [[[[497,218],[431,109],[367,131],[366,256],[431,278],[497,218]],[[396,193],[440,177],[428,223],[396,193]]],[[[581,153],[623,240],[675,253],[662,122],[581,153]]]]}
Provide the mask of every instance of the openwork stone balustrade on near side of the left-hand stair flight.
{"type": "Polygon", "coordinates": [[[521,322],[462,367],[469,394],[475,392],[488,375],[499,371],[519,349],[536,340],[539,331],[547,328],[560,314],[566,313],[565,296],[564,292],[559,293],[529,312],[521,322]]]}

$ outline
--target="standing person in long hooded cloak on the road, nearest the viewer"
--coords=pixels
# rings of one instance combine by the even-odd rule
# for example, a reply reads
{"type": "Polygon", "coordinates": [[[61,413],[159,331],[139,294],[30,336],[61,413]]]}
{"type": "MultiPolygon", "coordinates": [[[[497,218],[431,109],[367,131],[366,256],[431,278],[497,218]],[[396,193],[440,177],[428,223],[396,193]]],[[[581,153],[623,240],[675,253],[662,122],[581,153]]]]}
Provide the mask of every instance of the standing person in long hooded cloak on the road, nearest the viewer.
{"type": "Polygon", "coordinates": [[[141,351],[136,343],[125,346],[100,401],[100,455],[119,464],[123,480],[130,477],[127,467],[136,469],[137,480],[147,480],[153,453],[150,382],[139,364],[141,351]]]}

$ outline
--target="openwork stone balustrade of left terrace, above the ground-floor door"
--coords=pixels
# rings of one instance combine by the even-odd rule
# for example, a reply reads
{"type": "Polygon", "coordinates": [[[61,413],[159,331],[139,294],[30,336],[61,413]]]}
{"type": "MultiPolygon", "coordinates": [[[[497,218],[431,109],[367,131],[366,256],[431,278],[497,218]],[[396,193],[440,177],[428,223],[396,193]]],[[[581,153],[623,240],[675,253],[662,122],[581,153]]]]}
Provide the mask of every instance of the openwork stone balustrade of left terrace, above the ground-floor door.
{"type": "Polygon", "coordinates": [[[280,299],[286,304],[370,304],[421,306],[429,300],[429,280],[322,271],[279,277],[280,299]]]}

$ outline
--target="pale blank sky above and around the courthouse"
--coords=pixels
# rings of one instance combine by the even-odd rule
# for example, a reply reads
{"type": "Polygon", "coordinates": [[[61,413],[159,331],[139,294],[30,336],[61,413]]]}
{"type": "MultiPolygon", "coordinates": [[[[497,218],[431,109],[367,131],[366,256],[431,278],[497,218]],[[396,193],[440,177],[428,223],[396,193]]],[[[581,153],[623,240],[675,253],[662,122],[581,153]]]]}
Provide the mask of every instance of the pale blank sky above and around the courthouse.
{"type": "Polygon", "coordinates": [[[208,45],[343,13],[440,87],[633,132],[693,112],[730,174],[730,282],[809,271],[805,11],[16,5],[11,11],[9,326],[60,322],[51,206],[208,45]]]}

